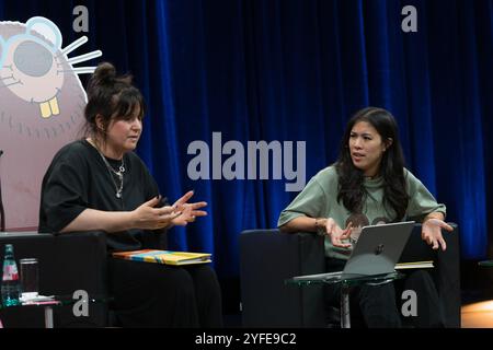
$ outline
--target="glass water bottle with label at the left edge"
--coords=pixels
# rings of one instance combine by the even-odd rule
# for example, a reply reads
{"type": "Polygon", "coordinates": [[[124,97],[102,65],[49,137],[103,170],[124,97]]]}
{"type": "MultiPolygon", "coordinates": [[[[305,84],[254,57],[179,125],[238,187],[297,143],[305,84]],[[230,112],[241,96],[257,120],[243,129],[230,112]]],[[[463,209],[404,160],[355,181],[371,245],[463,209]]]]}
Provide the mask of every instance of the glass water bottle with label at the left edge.
{"type": "Polygon", "coordinates": [[[15,264],[12,244],[5,244],[1,292],[3,307],[21,304],[19,300],[21,283],[19,281],[18,265],[15,264]]]}

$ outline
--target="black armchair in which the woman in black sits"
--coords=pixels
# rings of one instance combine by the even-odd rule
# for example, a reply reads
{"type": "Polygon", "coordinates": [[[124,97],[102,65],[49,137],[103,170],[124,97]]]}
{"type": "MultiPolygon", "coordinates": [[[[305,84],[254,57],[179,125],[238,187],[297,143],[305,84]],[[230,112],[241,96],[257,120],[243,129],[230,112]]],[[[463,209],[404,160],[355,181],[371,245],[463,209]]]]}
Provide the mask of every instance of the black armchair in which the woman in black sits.
{"type": "MultiPolygon", "coordinates": [[[[15,259],[39,260],[39,292],[43,295],[72,295],[84,290],[99,300],[107,298],[106,236],[102,232],[73,234],[0,233],[0,261],[3,245],[14,246],[15,259]]],[[[43,327],[43,310],[3,308],[0,318],[4,327],[43,327]]],[[[71,306],[54,307],[55,327],[104,327],[107,304],[90,303],[89,315],[76,317],[71,306]]]]}

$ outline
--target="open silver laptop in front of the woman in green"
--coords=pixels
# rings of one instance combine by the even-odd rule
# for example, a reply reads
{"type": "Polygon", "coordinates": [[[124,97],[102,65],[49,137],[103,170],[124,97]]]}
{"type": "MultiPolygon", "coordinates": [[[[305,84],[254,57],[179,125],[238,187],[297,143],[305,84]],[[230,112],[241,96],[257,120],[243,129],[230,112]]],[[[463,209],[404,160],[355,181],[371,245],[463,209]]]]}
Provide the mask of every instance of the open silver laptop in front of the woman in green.
{"type": "Polygon", "coordinates": [[[294,280],[346,279],[386,275],[394,271],[395,264],[411,235],[414,221],[365,226],[344,270],[294,277],[294,280]]]}

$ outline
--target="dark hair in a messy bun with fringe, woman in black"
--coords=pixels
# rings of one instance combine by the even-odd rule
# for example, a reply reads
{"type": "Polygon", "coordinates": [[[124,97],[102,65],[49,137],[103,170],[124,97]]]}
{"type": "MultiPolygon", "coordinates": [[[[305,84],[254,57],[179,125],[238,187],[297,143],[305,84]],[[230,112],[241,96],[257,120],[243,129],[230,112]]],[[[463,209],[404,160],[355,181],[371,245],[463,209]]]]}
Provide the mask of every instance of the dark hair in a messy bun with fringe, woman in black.
{"type": "Polygon", "coordinates": [[[112,63],[102,62],[89,80],[85,105],[84,136],[94,136],[105,140],[105,130],[112,118],[129,120],[134,117],[134,112],[139,107],[141,119],[146,113],[146,104],[142,94],[131,83],[133,77],[129,74],[118,77],[112,63]],[[96,125],[96,116],[102,117],[102,129],[96,125]]]}

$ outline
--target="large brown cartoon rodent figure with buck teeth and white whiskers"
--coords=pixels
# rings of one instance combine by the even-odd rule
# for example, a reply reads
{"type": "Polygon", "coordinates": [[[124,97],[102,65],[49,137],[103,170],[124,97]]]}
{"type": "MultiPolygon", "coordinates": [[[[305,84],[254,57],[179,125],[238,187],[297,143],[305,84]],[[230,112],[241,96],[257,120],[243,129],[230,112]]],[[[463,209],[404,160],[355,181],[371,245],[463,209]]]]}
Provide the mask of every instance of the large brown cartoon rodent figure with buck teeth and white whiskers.
{"type": "Polygon", "coordinates": [[[68,55],[87,42],[84,36],[62,48],[58,26],[41,16],[0,22],[0,177],[8,229],[37,225],[43,174],[80,135],[87,95],[78,74],[95,67],[73,65],[102,52],[68,55]]]}

